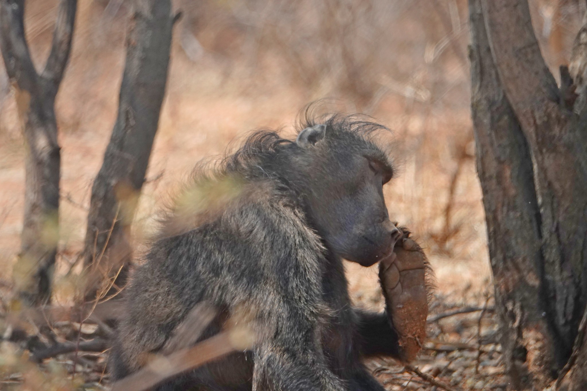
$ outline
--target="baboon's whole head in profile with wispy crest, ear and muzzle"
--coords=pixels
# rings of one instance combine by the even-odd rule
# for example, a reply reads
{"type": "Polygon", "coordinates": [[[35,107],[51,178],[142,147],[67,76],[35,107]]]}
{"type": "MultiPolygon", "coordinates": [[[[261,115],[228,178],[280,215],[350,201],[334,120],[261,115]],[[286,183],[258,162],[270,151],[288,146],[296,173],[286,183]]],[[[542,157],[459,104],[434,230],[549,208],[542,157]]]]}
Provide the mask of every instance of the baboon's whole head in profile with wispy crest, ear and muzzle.
{"type": "Polygon", "coordinates": [[[310,124],[298,134],[294,161],[306,213],[327,246],[371,266],[400,238],[389,220],[383,185],[393,176],[389,156],[373,141],[382,125],[348,118],[310,124]]]}

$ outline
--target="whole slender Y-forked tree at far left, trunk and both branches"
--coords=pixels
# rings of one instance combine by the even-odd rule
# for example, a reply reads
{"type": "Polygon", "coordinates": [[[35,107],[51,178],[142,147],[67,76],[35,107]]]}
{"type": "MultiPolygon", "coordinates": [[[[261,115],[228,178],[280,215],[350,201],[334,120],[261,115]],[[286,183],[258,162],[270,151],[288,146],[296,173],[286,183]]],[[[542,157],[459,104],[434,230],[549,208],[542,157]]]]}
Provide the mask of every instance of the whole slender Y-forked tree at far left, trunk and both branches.
{"type": "Polygon", "coordinates": [[[55,97],[69,59],[76,8],[76,0],[60,2],[49,57],[39,74],[25,39],[24,0],[0,2],[0,49],[26,142],[25,213],[13,277],[19,298],[28,305],[49,301],[51,293],[59,239],[55,97]]]}

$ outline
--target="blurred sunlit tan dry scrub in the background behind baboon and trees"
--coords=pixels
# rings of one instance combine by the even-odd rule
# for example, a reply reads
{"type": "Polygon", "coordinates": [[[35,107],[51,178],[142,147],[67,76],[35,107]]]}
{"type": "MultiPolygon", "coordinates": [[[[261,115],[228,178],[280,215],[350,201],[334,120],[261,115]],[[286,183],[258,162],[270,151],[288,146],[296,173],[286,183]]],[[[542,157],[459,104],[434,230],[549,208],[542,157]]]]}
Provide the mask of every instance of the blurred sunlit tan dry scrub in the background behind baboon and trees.
{"type": "MultiPolygon", "coordinates": [[[[33,60],[44,59],[57,2],[29,0],[26,4],[25,26],[33,60]]],[[[443,304],[431,311],[463,303],[484,309],[483,319],[477,311],[474,317],[463,315],[456,323],[431,325],[436,351],[429,351],[427,357],[436,355],[436,362],[446,368],[430,358],[424,369],[434,376],[456,379],[453,385],[463,376],[474,379],[463,383],[462,389],[486,384],[478,383],[485,379],[482,376],[475,378],[478,373],[494,374],[477,370],[483,361],[481,348],[467,350],[477,342],[481,346],[482,326],[485,331],[493,328],[486,314],[491,307],[490,268],[469,108],[467,3],[180,0],[175,6],[184,16],[174,32],[167,96],[134,217],[136,248],[140,250],[154,232],[160,206],[178,191],[194,164],[221,154],[245,132],[284,127],[282,131],[291,135],[288,124],[295,122],[306,103],[318,99],[323,100],[325,111],[372,115],[393,130],[396,145],[399,175],[385,190],[390,216],[413,230],[436,270],[443,304]],[[471,353],[470,357],[463,355],[474,362],[473,369],[468,368],[471,373],[465,367],[449,368],[463,357],[451,358],[459,348],[443,351],[438,341],[450,341],[453,348],[468,344],[461,348],[471,353]],[[454,373],[458,376],[451,378],[454,373]]],[[[531,6],[545,56],[556,66],[568,59],[569,42],[584,5],[536,0],[531,6]]],[[[62,203],[53,301],[63,305],[72,302],[79,288],[79,254],[90,188],[116,116],[129,17],[127,4],[121,0],[81,1],[77,12],[72,55],[56,107],[62,203]]],[[[22,229],[22,145],[14,93],[0,66],[0,299],[4,314],[11,305],[13,266],[22,229]]],[[[360,305],[383,305],[376,268],[363,270],[349,264],[348,277],[353,298],[360,305]]],[[[73,329],[61,325],[58,331],[65,335],[76,332],[77,327],[78,335],[87,334],[85,324],[80,323],[73,329]]],[[[0,331],[4,332],[2,319],[0,331]]],[[[2,344],[0,360],[12,360],[0,363],[2,368],[11,368],[0,373],[6,385],[24,381],[24,389],[40,389],[39,382],[53,382],[57,389],[62,372],[71,373],[72,368],[86,375],[91,372],[85,361],[78,362],[75,369],[73,356],[68,356],[62,360],[65,366],[49,361],[48,372],[42,374],[12,353],[18,353],[14,346],[2,344]]],[[[77,351],[75,358],[80,358],[77,351]]],[[[103,356],[81,358],[97,360],[103,368],[103,356]]],[[[395,373],[389,365],[379,366],[382,379],[388,379],[386,373],[395,373]]],[[[500,368],[495,360],[489,366],[500,368]]],[[[409,380],[411,375],[398,376],[403,380],[389,380],[389,387],[396,383],[402,388],[430,387],[409,380]]],[[[87,375],[85,380],[99,382],[102,377],[103,373],[87,375]]],[[[73,384],[76,382],[82,383],[79,376],[73,384]]]]}

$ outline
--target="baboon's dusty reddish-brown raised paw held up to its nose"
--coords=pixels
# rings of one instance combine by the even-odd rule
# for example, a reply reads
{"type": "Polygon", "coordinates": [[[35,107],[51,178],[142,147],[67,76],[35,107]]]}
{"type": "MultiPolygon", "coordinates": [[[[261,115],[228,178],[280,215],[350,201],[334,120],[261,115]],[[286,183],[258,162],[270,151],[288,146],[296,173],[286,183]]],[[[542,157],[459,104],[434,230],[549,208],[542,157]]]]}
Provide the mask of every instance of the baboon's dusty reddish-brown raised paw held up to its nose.
{"type": "Polygon", "coordinates": [[[410,239],[410,232],[398,228],[403,237],[396,243],[392,256],[379,263],[379,280],[387,316],[399,338],[400,359],[410,362],[426,337],[427,260],[419,244],[410,239]]]}

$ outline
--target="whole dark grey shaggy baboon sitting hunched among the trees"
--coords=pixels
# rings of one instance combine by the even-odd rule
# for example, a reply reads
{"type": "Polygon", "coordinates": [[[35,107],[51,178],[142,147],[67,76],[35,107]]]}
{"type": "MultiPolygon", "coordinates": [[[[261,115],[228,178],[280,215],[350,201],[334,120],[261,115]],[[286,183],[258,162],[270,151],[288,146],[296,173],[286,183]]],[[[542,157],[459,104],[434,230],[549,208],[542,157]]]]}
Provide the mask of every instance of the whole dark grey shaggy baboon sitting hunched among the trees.
{"type": "Polygon", "coordinates": [[[201,339],[244,313],[257,342],[159,391],[382,391],[362,358],[409,361],[420,349],[426,266],[389,220],[383,185],[393,166],[374,136],[386,128],[341,115],[300,128],[295,141],[254,132],[196,170],[126,289],[114,379],[144,365],[202,302],[218,316],[201,339]],[[352,307],[342,259],[382,261],[386,312],[352,307]]]}

